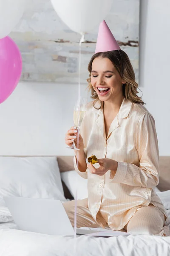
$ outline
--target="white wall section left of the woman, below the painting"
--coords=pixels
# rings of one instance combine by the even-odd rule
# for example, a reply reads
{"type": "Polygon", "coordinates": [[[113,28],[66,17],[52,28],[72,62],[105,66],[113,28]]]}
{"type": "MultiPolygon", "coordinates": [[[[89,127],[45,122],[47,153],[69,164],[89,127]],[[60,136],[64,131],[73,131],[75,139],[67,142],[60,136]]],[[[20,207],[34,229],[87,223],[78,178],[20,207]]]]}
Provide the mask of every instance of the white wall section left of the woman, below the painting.
{"type": "MultiPolygon", "coordinates": [[[[87,96],[83,85],[81,95],[87,96]]],[[[73,125],[77,85],[23,82],[0,105],[0,155],[71,155],[65,133],[73,125]]]]}

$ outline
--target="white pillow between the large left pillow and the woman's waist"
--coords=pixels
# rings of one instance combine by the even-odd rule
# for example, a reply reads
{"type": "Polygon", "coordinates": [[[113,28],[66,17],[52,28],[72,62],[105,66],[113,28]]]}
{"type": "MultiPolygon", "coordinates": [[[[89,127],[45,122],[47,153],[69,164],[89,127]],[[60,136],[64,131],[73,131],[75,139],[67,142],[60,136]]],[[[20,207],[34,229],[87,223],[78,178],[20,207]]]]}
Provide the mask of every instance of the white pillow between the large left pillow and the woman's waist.
{"type": "Polygon", "coordinates": [[[65,185],[68,187],[73,198],[77,199],[88,198],[88,181],[78,175],[76,171],[68,171],[61,173],[61,179],[64,181],[65,185]]]}

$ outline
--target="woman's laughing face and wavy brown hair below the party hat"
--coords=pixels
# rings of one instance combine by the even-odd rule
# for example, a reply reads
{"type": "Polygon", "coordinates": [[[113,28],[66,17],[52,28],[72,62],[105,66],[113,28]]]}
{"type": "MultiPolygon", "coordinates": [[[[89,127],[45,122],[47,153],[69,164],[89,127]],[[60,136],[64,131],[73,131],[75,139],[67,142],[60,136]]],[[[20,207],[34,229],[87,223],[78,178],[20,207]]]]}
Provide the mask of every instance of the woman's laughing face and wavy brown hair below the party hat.
{"type": "Polygon", "coordinates": [[[138,84],[135,81],[135,73],[124,51],[118,49],[97,52],[88,64],[88,71],[90,73],[87,79],[88,89],[91,90],[92,99],[100,100],[102,103],[122,94],[125,99],[133,103],[144,104],[142,98],[137,95],[138,84]]]}

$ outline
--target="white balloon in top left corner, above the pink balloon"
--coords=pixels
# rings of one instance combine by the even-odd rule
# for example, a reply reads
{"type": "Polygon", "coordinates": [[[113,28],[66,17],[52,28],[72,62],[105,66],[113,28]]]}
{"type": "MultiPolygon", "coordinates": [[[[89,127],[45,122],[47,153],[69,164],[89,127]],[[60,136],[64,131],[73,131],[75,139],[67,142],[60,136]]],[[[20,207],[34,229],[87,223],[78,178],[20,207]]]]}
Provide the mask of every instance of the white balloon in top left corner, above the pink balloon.
{"type": "Polygon", "coordinates": [[[0,38],[6,37],[20,21],[26,0],[0,0],[0,38]]]}

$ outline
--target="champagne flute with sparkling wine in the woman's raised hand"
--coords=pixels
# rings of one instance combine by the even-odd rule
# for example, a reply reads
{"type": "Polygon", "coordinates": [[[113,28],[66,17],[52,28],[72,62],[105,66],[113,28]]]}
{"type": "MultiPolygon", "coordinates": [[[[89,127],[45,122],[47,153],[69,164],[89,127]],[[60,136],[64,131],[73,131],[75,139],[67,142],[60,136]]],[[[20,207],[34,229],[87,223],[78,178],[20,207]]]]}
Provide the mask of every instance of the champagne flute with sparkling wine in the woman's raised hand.
{"type": "MultiPolygon", "coordinates": [[[[73,115],[74,126],[76,127],[76,129],[79,129],[80,126],[82,125],[82,121],[86,113],[86,108],[87,108],[87,98],[79,97],[76,104],[74,105],[74,115],[73,115]]],[[[77,148],[75,145],[75,140],[73,144],[67,148],[79,150],[79,148],[77,148]]]]}

